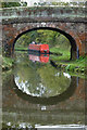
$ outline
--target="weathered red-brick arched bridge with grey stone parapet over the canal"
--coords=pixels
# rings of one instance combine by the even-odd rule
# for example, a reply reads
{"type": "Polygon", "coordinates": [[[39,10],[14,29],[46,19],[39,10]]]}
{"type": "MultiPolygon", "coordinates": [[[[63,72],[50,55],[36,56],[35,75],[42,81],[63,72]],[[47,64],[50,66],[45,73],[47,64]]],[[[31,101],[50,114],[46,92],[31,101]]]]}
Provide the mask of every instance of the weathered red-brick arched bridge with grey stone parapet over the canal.
{"type": "Polygon", "coordinates": [[[15,41],[34,29],[51,29],[63,34],[71,43],[71,58],[87,54],[85,8],[32,6],[1,9],[3,53],[12,55],[15,41]],[[78,51],[77,51],[78,50],[78,51]]]}

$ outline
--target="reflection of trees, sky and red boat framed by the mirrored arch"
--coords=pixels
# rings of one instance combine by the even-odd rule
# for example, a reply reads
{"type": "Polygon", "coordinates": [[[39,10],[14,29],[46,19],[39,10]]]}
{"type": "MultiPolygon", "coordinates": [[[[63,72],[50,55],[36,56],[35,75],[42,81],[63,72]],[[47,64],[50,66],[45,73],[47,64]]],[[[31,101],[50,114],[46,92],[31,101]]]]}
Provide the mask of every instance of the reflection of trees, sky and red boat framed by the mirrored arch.
{"type": "MultiPolygon", "coordinates": [[[[37,55],[29,54],[29,58],[46,63],[49,55],[40,54],[37,57],[37,55]]],[[[51,64],[34,63],[27,57],[24,60],[21,57],[14,76],[15,84],[22,92],[32,96],[50,98],[63,93],[70,87],[71,76],[69,74],[59,72],[51,64]]]]}

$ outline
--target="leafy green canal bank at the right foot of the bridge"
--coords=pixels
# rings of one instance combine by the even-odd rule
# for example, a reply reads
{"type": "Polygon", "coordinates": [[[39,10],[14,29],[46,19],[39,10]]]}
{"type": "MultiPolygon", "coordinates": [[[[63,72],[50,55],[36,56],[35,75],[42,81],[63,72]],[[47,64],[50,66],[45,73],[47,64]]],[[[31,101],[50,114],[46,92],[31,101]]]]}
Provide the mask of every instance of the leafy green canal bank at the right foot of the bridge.
{"type": "Polygon", "coordinates": [[[51,57],[60,68],[66,72],[83,73],[87,75],[87,56],[80,56],[76,61],[62,61],[63,57],[60,58],[51,57]]]}

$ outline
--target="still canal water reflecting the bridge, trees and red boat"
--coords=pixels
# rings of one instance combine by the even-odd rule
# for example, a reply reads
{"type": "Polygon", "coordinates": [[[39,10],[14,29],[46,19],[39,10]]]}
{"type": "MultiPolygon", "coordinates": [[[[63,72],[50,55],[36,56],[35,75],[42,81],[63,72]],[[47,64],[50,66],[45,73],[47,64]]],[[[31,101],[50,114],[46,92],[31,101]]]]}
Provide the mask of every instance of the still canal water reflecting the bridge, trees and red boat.
{"type": "Polygon", "coordinates": [[[51,55],[16,52],[3,74],[3,128],[84,125],[85,79],[58,68],[51,55]]]}

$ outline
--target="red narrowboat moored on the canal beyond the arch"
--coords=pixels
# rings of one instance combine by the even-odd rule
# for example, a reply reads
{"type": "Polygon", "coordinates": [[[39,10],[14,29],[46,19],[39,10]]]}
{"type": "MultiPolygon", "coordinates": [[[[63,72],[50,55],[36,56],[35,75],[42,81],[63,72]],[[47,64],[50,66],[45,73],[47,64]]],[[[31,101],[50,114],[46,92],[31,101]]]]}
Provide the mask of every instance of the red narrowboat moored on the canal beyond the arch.
{"type": "Polygon", "coordinates": [[[48,44],[33,44],[30,43],[28,47],[30,51],[38,51],[40,53],[49,53],[49,46],[48,44]]]}

